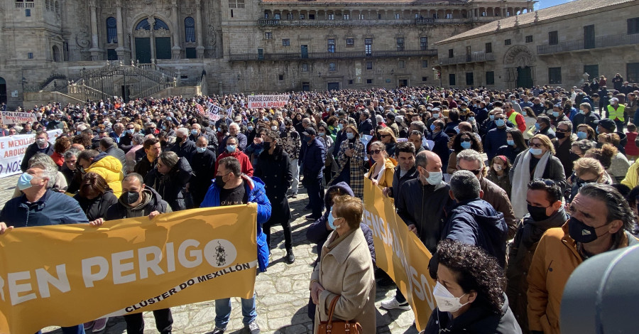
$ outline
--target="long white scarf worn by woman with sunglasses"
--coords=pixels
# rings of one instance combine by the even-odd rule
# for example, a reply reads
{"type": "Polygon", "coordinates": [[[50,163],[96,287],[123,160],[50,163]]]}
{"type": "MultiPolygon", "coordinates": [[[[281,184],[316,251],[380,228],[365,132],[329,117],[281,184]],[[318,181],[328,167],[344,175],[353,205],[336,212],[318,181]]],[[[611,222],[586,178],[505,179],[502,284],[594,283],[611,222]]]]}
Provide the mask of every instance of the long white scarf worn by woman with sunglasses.
{"type": "MultiPolygon", "coordinates": [[[[547,151],[539,159],[539,163],[535,167],[535,172],[532,174],[532,179],[542,178],[546,171],[546,164],[550,159],[552,153],[547,151]]],[[[513,172],[512,195],[510,195],[510,203],[513,204],[513,210],[515,211],[515,217],[517,219],[522,218],[528,213],[528,204],[526,203],[526,195],[528,193],[528,183],[530,183],[530,149],[523,153],[520,163],[513,172]]]]}

